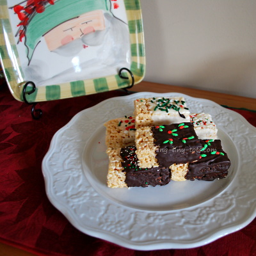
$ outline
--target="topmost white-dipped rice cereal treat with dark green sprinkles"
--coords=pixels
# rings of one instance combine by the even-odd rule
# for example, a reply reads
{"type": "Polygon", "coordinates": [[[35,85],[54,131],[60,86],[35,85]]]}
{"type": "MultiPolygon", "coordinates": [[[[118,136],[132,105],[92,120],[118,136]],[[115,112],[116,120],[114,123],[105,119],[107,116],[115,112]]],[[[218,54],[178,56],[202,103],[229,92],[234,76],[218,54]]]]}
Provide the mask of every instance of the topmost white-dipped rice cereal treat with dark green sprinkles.
{"type": "Polygon", "coordinates": [[[190,122],[184,97],[134,100],[136,129],[153,125],[190,122]]]}

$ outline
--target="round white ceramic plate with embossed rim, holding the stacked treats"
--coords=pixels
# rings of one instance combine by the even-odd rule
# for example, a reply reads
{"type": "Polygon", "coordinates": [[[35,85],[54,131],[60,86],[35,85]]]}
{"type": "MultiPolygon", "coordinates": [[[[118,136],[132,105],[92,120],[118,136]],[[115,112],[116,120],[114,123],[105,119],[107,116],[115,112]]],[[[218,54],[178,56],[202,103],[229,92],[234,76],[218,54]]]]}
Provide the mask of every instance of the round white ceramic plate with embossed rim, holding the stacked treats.
{"type": "Polygon", "coordinates": [[[228,177],[155,188],[106,186],[104,122],[132,115],[134,99],[177,95],[141,92],[104,100],[56,132],[42,170],[49,200],[74,227],[127,248],[156,250],[202,246],[255,218],[255,127],[234,111],[188,95],[182,96],[191,113],[209,113],[218,126],[231,161],[228,177]]]}

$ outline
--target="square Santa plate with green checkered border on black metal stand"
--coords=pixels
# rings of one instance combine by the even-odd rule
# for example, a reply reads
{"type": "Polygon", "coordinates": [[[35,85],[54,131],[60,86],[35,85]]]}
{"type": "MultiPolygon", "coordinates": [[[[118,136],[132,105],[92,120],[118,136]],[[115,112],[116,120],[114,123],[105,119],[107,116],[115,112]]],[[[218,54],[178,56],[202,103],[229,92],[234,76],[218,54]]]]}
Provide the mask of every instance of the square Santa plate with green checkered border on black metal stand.
{"type": "Polygon", "coordinates": [[[26,99],[40,102],[125,88],[145,76],[139,0],[0,3],[1,65],[15,99],[23,100],[26,83],[36,87],[26,99]]]}

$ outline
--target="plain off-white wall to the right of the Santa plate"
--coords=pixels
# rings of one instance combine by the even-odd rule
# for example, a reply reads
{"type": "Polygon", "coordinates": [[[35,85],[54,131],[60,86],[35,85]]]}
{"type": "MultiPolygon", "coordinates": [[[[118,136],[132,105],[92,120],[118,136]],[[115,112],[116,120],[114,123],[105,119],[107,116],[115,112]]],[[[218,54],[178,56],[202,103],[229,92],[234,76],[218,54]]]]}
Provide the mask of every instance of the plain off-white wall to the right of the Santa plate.
{"type": "Polygon", "coordinates": [[[256,98],[255,0],[140,0],[145,81],[256,98]]]}

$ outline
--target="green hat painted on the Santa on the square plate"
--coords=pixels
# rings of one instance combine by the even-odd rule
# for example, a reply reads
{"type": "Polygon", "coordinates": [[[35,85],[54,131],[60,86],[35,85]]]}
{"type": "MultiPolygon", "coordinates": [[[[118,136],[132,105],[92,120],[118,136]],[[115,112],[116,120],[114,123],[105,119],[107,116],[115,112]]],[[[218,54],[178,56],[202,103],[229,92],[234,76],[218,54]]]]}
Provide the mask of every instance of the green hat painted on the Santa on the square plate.
{"type": "MultiPolygon", "coordinates": [[[[45,2],[45,1],[44,1],[45,2]]],[[[61,23],[78,17],[83,13],[92,12],[94,10],[111,10],[110,0],[55,0],[47,1],[44,11],[34,13],[28,20],[25,28],[25,44],[28,48],[28,59],[35,50],[36,45],[40,42],[40,38],[48,31],[61,23]],[[48,2],[52,2],[50,4],[48,2]]]]}

